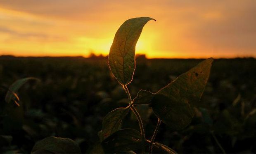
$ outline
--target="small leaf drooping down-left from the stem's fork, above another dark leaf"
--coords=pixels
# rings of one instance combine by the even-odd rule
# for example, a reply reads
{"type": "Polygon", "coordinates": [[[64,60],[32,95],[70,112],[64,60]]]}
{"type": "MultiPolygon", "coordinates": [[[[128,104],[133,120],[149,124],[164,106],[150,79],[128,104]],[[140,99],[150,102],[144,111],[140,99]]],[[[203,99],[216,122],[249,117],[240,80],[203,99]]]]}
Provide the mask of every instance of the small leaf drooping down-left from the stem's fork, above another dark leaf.
{"type": "Polygon", "coordinates": [[[128,112],[129,108],[116,108],[103,118],[102,131],[98,133],[101,141],[119,130],[119,126],[128,112]]]}

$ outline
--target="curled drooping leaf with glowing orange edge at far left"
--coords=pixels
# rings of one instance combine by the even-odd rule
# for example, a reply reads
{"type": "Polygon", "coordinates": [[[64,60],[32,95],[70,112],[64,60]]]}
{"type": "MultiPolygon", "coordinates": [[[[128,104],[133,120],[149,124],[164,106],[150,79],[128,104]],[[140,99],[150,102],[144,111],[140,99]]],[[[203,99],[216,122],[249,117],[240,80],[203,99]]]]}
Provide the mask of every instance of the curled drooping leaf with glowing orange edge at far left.
{"type": "Polygon", "coordinates": [[[7,91],[7,94],[5,96],[5,101],[9,103],[11,100],[15,101],[15,98],[17,99],[17,101],[19,101],[19,97],[17,96],[16,93],[18,92],[19,88],[22,85],[28,82],[28,80],[38,80],[38,78],[33,78],[33,77],[22,78],[12,83],[12,85],[9,87],[9,90],[7,91]]]}

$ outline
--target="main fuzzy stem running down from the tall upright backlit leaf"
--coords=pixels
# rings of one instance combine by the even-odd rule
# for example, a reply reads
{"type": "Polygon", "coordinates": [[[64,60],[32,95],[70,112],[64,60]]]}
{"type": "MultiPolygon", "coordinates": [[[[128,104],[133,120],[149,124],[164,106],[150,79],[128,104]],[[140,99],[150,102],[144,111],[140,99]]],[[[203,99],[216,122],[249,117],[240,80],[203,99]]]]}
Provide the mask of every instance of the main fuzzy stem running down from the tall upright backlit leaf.
{"type": "Polygon", "coordinates": [[[146,138],[145,138],[145,131],[144,131],[144,127],[143,127],[143,124],[142,124],[142,120],[141,120],[140,114],[138,113],[136,108],[134,108],[134,106],[133,106],[133,101],[131,99],[130,92],[128,90],[127,85],[123,85],[123,89],[126,91],[127,97],[129,99],[129,106],[128,107],[130,107],[130,109],[133,111],[133,113],[135,114],[135,117],[137,118],[137,120],[139,122],[140,133],[141,133],[142,139],[143,139],[142,153],[144,154],[145,153],[145,141],[146,141],[146,138]]]}

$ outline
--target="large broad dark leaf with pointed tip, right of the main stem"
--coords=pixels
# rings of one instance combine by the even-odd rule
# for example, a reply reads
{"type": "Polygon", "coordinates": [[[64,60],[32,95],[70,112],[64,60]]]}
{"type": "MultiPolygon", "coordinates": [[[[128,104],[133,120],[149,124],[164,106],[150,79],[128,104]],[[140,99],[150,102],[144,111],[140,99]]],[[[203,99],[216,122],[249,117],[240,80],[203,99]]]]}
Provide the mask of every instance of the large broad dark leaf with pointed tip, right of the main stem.
{"type": "Polygon", "coordinates": [[[152,109],[162,122],[172,130],[185,128],[194,116],[194,106],[199,102],[209,78],[209,58],[199,63],[157,92],[152,99],[152,109]]]}

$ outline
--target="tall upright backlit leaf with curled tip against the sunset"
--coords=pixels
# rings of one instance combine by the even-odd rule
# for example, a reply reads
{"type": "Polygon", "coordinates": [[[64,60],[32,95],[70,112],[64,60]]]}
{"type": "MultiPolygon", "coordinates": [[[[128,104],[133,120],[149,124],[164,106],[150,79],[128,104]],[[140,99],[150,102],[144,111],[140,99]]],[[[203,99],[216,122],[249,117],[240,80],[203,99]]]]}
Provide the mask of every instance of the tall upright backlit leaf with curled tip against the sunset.
{"type": "Polygon", "coordinates": [[[135,71],[135,46],[149,17],[131,18],[117,30],[109,51],[109,67],[121,85],[128,85],[135,71]]]}

